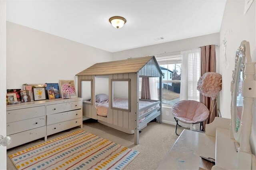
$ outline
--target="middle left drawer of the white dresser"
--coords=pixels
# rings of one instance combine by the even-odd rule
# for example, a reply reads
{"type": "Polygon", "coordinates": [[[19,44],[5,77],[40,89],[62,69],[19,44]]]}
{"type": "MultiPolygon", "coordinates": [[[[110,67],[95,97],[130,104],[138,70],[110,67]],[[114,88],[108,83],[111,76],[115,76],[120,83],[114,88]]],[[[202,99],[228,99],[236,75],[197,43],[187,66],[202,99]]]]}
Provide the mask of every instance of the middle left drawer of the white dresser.
{"type": "Polygon", "coordinates": [[[7,135],[45,126],[45,116],[6,124],[7,135]]]}

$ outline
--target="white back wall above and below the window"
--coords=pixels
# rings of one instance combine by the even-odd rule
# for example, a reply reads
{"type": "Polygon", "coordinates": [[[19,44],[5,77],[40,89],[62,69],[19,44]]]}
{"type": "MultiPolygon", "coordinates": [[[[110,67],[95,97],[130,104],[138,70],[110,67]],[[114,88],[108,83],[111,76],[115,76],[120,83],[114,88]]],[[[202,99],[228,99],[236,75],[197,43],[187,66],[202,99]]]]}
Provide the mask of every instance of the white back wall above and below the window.
{"type": "MultiPolygon", "coordinates": [[[[205,36],[199,36],[194,38],[187,38],[184,40],[177,40],[173,42],[160,43],[156,45],[150,45],[146,47],[134,48],[125,51],[118,51],[113,53],[114,60],[127,59],[129,57],[142,57],[148,55],[156,55],[161,53],[168,53],[174,51],[183,51],[193,48],[198,48],[203,45],[220,44],[219,33],[209,34],[205,36]]],[[[219,47],[216,47],[216,62],[219,63],[219,47]]],[[[217,72],[219,67],[217,65],[217,72]]],[[[162,119],[164,123],[176,124],[173,119],[171,109],[163,108],[162,119]],[[168,115],[166,114],[168,112],[168,115]]]]}

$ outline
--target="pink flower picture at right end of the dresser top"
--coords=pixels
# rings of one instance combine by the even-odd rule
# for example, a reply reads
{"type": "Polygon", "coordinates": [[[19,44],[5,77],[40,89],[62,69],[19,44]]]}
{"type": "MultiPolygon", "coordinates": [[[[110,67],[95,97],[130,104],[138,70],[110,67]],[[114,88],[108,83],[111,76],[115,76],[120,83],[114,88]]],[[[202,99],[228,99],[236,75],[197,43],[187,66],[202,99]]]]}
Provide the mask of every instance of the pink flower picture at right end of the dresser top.
{"type": "Polygon", "coordinates": [[[60,80],[60,91],[63,99],[77,97],[74,80],[60,80]]]}

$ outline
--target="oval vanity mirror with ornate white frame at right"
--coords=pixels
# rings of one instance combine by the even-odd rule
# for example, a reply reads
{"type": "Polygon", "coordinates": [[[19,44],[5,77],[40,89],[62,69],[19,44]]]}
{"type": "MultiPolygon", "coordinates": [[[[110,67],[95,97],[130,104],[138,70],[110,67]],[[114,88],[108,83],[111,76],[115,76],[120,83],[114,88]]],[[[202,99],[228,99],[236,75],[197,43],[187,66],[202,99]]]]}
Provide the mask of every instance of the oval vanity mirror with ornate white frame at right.
{"type": "Polygon", "coordinates": [[[236,50],[235,70],[231,82],[231,131],[239,143],[239,152],[251,152],[252,104],[256,97],[255,62],[249,42],[242,41],[236,50]]]}

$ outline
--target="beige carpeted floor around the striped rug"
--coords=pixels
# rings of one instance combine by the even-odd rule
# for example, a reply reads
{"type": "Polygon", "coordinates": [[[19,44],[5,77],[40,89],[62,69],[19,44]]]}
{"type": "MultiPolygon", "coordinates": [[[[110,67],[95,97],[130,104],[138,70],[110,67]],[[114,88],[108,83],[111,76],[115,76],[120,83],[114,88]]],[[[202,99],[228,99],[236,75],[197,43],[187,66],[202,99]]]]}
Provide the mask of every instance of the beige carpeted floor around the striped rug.
{"type": "MultiPolygon", "coordinates": [[[[63,132],[59,132],[57,134],[53,134],[48,136],[48,140],[52,140],[56,137],[63,136],[75,130],[79,130],[79,127],[72,128],[70,130],[66,130],[63,132]]],[[[83,129],[86,132],[90,132],[102,138],[106,138],[117,144],[127,146],[128,148],[138,150],[140,154],[126,166],[125,170],[154,170],[158,167],[168,150],[172,147],[175,140],[178,138],[175,134],[175,126],[168,124],[159,124],[156,122],[148,123],[148,126],[142,129],[140,133],[140,144],[134,144],[134,135],[126,134],[119,130],[107,127],[102,125],[96,121],[84,121],[83,129]]],[[[178,127],[178,133],[182,132],[183,128],[178,127]]],[[[24,150],[31,146],[37,145],[44,142],[43,138],[40,140],[35,140],[33,142],[29,142],[23,144],[21,146],[17,146],[7,150],[7,156],[10,154],[14,154],[20,150],[24,150]]],[[[15,166],[12,164],[9,157],[7,157],[7,169],[15,170],[15,166]]]]}

